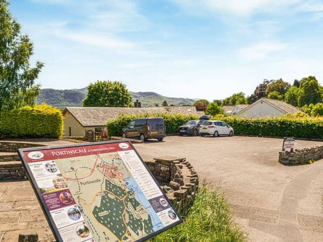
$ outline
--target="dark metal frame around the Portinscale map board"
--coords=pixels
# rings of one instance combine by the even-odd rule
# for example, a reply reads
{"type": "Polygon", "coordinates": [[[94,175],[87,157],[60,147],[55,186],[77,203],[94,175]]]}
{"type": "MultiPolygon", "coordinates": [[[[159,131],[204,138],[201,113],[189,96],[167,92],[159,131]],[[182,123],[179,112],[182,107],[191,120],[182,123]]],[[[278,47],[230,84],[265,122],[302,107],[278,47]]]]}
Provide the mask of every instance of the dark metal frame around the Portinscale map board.
{"type": "Polygon", "coordinates": [[[142,242],[145,241],[161,232],[164,232],[180,223],[183,222],[182,217],[179,215],[179,213],[177,212],[177,210],[174,208],[173,204],[170,202],[170,200],[168,199],[168,197],[166,196],[165,192],[163,191],[163,189],[160,188],[158,181],[156,180],[156,178],[153,176],[152,172],[149,170],[148,166],[145,164],[145,162],[143,161],[143,159],[141,158],[141,156],[139,155],[139,153],[137,152],[137,150],[135,149],[135,147],[133,146],[133,144],[131,143],[130,140],[128,139],[124,139],[124,140],[116,140],[116,141],[101,141],[101,142],[91,142],[91,143],[81,143],[81,144],[72,144],[72,145],[59,145],[59,146],[41,146],[41,147],[33,147],[33,148],[23,148],[23,149],[18,149],[18,154],[19,157],[22,161],[22,164],[25,168],[25,170],[27,171],[27,176],[29,178],[29,181],[31,183],[31,186],[36,194],[37,200],[40,204],[40,207],[42,208],[42,211],[46,217],[46,220],[48,222],[48,225],[53,233],[53,235],[55,236],[57,242],[65,242],[59,232],[58,227],[55,224],[55,221],[52,219],[52,216],[50,214],[49,209],[47,208],[44,199],[42,198],[42,193],[40,192],[40,189],[38,189],[37,187],[37,183],[36,183],[36,179],[35,177],[32,175],[32,171],[28,165],[27,159],[25,157],[24,152],[29,152],[29,151],[43,151],[43,150],[52,150],[52,149],[63,149],[63,148],[77,148],[77,147],[82,147],[82,146],[92,146],[92,145],[109,145],[109,144],[116,144],[116,143],[125,143],[128,142],[132,148],[132,150],[136,153],[136,155],[139,157],[140,161],[143,163],[144,167],[146,168],[146,170],[148,171],[149,175],[152,177],[153,181],[155,182],[155,184],[157,185],[158,189],[160,190],[161,194],[165,197],[165,199],[167,200],[167,202],[169,203],[170,207],[173,209],[173,211],[175,212],[175,214],[178,216],[179,220],[165,226],[162,229],[159,229],[151,234],[148,234],[147,236],[140,238],[134,242],[142,242]]]}

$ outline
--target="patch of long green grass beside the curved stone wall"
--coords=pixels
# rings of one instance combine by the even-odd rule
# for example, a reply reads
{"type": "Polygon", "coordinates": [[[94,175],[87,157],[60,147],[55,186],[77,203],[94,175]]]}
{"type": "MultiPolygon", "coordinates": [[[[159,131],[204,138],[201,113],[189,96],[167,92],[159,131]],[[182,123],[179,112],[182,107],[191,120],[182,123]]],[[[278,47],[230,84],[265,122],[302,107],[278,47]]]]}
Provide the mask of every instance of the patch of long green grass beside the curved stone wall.
{"type": "Polygon", "coordinates": [[[157,236],[150,242],[243,242],[247,236],[234,222],[223,193],[205,184],[199,189],[184,223],[157,236]]]}

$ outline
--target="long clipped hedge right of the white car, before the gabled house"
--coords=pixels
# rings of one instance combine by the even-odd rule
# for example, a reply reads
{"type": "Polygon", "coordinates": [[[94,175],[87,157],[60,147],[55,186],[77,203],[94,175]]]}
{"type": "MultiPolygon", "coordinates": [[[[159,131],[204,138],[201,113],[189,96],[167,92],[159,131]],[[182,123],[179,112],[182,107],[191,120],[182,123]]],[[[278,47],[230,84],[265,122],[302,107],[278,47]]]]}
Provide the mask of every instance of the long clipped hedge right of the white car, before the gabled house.
{"type": "Polygon", "coordinates": [[[323,138],[323,118],[306,114],[287,114],[281,117],[239,118],[237,116],[213,116],[212,119],[228,123],[237,135],[323,138]]]}

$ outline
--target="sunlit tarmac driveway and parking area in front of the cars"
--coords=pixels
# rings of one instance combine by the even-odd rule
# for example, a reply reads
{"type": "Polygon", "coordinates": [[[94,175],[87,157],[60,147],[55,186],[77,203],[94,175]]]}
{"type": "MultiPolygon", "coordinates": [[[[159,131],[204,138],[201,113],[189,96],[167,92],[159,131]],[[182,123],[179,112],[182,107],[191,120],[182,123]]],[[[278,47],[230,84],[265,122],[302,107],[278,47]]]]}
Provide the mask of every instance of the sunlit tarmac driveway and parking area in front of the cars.
{"type": "MultiPolygon", "coordinates": [[[[278,163],[282,139],[167,137],[135,144],[145,160],[185,157],[231,204],[251,241],[323,241],[323,160],[311,165],[278,163]]],[[[295,148],[321,142],[296,140],[295,148]]]]}

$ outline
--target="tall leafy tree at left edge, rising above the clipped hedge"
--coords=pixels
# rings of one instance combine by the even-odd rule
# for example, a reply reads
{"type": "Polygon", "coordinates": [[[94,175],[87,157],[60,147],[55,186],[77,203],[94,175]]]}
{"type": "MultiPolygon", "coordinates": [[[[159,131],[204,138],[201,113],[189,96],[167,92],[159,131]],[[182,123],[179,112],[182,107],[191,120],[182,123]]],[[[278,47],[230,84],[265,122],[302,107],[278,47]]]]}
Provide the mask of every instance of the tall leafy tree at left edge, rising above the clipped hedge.
{"type": "Polygon", "coordinates": [[[33,104],[39,93],[34,86],[42,67],[31,68],[33,44],[21,34],[21,25],[13,19],[7,0],[0,0],[0,112],[33,104]]]}

